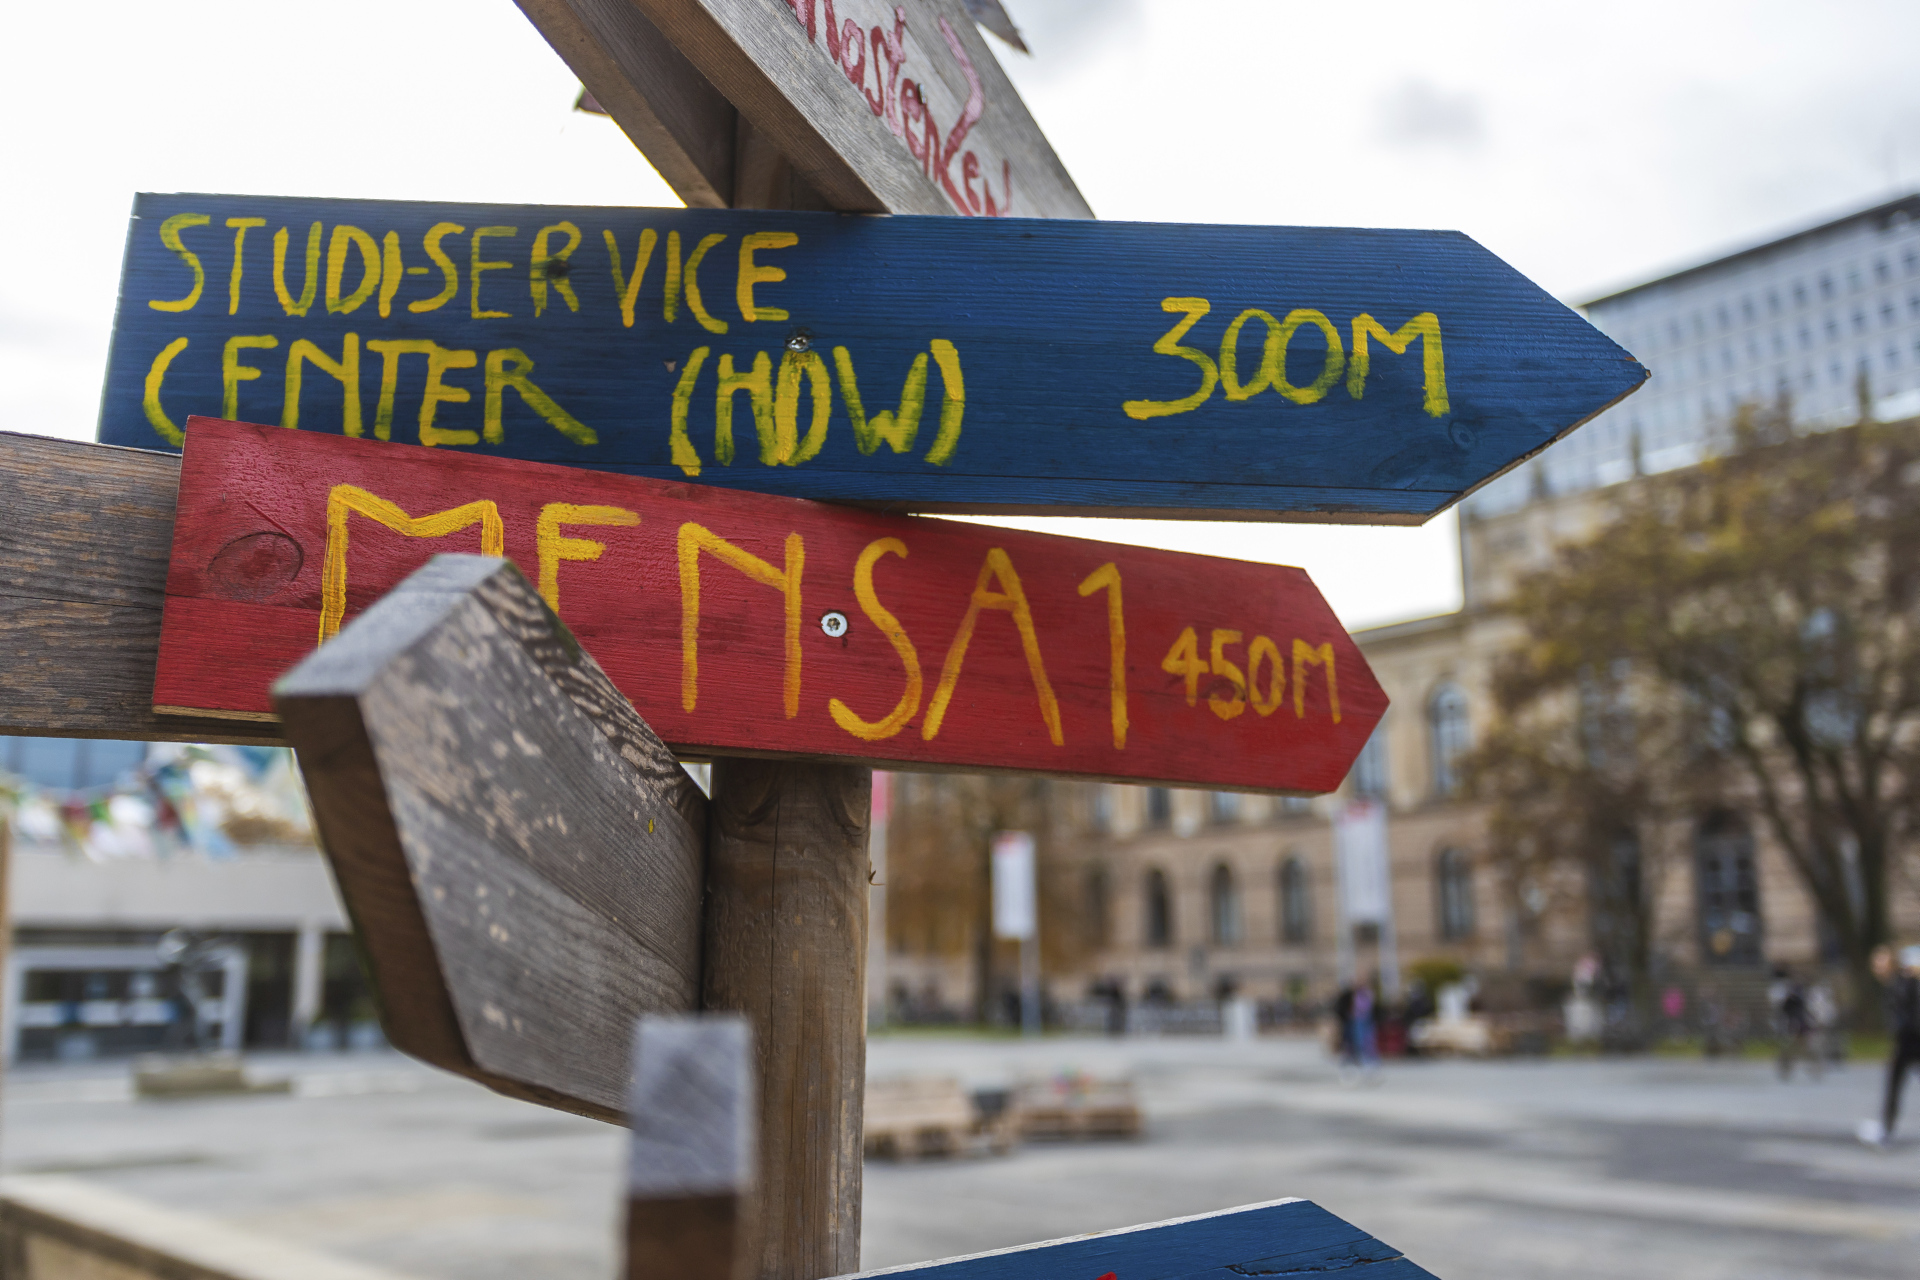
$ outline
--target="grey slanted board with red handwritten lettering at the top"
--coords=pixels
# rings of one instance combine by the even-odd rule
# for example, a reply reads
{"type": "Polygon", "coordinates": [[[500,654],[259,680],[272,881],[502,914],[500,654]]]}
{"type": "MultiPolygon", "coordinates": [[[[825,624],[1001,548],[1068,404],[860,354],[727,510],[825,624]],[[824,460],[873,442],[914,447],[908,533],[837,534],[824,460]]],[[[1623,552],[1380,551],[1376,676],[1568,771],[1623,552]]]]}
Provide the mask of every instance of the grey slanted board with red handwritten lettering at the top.
{"type": "Polygon", "coordinates": [[[1092,217],[958,0],[636,2],[835,209],[1092,217]]]}

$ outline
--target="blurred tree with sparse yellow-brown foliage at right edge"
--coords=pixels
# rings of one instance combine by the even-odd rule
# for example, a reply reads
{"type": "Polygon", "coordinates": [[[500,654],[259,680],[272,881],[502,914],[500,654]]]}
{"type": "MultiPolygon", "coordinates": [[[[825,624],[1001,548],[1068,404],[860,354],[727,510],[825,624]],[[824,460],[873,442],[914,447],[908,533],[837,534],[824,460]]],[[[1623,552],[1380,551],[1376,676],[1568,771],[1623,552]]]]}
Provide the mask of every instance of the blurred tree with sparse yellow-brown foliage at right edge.
{"type": "Polygon", "coordinates": [[[1872,990],[1920,816],[1920,422],[1743,411],[1720,457],[1609,503],[1507,604],[1475,760],[1501,856],[1624,915],[1644,986],[1653,883],[1707,806],[1745,808],[1872,990]]]}

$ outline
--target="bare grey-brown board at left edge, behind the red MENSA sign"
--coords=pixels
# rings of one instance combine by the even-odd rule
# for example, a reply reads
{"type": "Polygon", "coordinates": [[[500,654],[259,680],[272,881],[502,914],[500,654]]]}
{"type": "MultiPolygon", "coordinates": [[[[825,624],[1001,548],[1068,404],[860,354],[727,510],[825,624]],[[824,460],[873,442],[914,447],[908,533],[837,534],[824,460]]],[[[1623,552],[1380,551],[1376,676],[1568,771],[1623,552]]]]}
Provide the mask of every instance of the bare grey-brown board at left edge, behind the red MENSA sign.
{"type": "Polygon", "coordinates": [[[0,432],[0,733],[278,743],[154,714],[180,461],[0,432]]]}

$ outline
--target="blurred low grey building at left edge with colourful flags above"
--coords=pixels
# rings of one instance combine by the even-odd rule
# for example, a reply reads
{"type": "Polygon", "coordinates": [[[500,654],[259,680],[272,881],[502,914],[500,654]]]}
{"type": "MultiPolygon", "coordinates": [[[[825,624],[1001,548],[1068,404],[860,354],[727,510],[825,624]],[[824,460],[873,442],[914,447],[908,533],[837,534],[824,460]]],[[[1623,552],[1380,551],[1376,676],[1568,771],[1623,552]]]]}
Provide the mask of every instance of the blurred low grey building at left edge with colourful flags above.
{"type": "Polygon", "coordinates": [[[0,793],[10,1061],[376,1042],[290,752],[0,739],[0,793]]]}

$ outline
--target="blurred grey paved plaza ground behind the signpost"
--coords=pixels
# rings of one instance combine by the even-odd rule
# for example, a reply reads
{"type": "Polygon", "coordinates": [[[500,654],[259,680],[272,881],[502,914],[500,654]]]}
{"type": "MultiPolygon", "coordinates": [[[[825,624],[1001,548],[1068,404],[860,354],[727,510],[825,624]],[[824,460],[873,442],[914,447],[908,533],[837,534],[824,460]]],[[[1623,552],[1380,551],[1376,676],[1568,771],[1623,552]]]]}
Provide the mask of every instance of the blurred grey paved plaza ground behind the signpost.
{"type": "MultiPolygon", "coordinates": [[[[394,1054],[259,1057],[290,1096],[134,1102],[125,1069],[6,1082],[0,1167],[445,1280],[614,1274],[622,1132],[394,1054]]],[[[1346,1084],[1313,1040],[879,1036],[879,1075],[968,1086],[1131,1075],[1137,1142],[1029,1144],[866,1171],[889,1267],[1304,1196],[1442,1280],[1920,1276],[1920,1115],[1860,1148],[1880,1073],[1764,1063],[1394,1063],[1346,1084]]],[[[1920,1102],[1916,1102],[1920,1105],[1920,1102]]]]}

